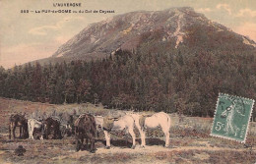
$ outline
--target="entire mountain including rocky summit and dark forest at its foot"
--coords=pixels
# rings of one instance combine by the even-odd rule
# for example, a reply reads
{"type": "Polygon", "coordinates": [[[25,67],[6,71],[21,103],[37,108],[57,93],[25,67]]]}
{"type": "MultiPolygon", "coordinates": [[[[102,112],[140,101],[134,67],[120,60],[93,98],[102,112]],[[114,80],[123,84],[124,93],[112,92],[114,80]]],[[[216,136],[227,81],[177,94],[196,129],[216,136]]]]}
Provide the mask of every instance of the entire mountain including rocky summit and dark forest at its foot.
{"type": "Polygon", "coordinates": [[[220,92],[256,97],[255,52],[254,41],[191,8],[133,12],[86,27],[39,61],[52,64],[0,70],[0,96],[213,117],[220,92]]]}

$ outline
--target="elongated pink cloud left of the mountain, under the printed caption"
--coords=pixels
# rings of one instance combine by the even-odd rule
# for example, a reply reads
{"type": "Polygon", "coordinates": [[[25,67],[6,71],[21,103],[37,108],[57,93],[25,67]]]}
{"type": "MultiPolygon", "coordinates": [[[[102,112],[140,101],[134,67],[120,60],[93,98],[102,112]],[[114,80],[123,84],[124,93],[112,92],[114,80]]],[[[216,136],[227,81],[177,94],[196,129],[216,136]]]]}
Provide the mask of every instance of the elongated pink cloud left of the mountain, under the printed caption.
{"type": "Polygon", "coordinates": [[[65,26],[74,24],[74,22],[81,22],[83,20],[83,17],[66,17],[63,20],[57,22],[54,26],[33,27],[29,30],[29,33],[33,35],[46,35],[49,31],[59,30],[65,26]]]}

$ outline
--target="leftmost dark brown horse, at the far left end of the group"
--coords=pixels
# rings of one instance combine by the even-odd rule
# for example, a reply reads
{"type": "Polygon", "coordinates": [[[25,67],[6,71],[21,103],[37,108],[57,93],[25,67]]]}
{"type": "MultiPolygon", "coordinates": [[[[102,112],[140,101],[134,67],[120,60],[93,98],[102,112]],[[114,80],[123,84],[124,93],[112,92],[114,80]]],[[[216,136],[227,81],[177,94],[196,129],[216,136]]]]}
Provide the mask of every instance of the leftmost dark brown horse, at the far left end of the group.
{"type": "Polygon", "coordinates": [[[29,137],[29,132],[28,132],[28,120],[25,118],[25,115],[21,114],[14,114],[11,115],[10,117],[10,123],[9,123],[9,138],[12,138],[12,133],[13,137],[15,137],[15,130],[16,127],[20,127],[20,138],[26,138],[29,137]]]}

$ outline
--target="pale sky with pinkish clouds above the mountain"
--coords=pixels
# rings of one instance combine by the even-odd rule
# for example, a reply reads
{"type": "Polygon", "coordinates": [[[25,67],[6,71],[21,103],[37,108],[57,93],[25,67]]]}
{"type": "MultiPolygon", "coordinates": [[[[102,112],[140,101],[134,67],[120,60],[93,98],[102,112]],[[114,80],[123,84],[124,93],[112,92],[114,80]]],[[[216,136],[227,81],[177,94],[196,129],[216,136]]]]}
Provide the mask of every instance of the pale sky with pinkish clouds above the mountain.
{"type": "Polygon", "coordinates": [[[9,69],[49,57],[83,28],[114,15],[171,7],[192,7],[256,41],[255,0],[0,0],[0,66],[9,69]],[[56,3],[81,3],[81,7],[54,7],[56,3]],[[65,9],[114,13],[35,13],[65,9]]]}

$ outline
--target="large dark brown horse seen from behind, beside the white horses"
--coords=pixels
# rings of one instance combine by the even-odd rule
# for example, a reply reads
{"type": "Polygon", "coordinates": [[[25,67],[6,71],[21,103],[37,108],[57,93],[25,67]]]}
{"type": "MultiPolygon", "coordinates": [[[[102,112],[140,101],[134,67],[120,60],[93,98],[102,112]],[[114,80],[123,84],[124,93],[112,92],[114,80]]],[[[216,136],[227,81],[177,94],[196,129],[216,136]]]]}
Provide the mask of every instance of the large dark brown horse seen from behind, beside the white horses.
{"type": "Polygon", "coordinates": [[[76,136],[76,150],[79,151],[86,138],[87,146],[88,140],[91,142],[90,152],[96,152],[95,138],[96,138],[96,119],[93,115],[83,114],[75,121],[75,136],[76,136]]]}

